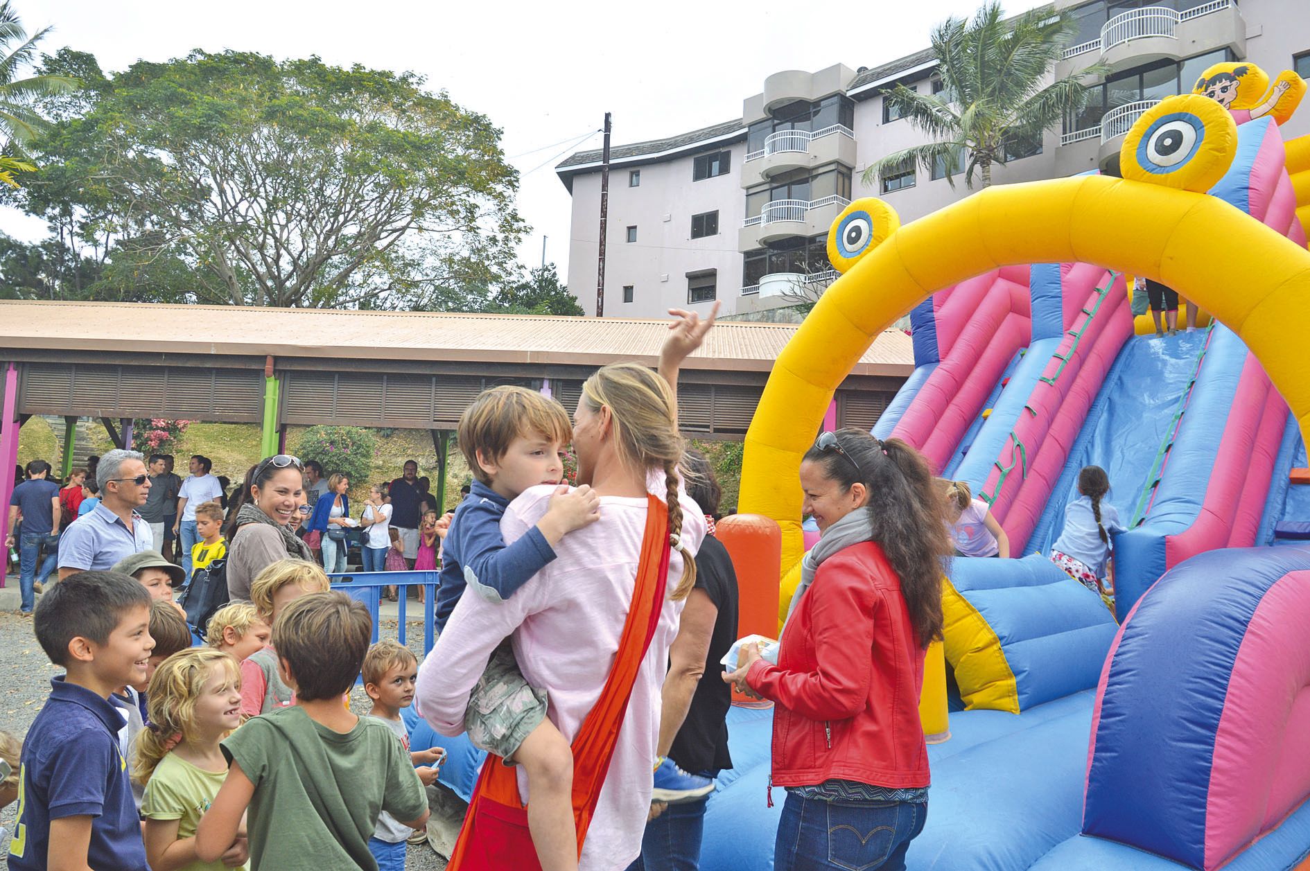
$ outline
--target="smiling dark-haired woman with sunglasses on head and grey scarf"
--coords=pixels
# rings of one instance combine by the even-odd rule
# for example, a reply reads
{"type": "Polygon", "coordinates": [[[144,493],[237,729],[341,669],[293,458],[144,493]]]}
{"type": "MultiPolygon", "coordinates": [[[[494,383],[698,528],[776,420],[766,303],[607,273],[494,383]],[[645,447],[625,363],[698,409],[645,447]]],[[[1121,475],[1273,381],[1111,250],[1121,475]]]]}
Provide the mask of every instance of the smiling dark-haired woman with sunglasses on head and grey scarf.
{"type": "Polygon", "coordinates": [[[266,567],[292,557],[313,562],[291,528],[304,500],[304,466],[279,453],[250,466],[232,503],[224,537],[228,545],[228,597],[250,599],[250,582],[266,567]]]}

